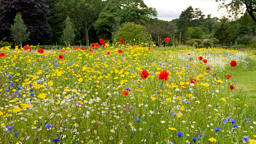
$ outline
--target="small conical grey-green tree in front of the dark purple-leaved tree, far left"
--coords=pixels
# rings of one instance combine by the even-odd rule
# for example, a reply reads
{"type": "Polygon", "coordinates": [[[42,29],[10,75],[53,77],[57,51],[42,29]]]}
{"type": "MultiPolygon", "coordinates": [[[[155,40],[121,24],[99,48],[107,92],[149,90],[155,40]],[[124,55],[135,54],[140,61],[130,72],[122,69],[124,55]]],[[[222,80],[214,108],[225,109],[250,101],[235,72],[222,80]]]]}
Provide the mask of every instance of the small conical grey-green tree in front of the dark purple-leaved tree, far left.
{"type": "Polygon", "coordinates": [[[16,42],[21,43],[22,48],[22,42],[26,42],[29,39],[30,33],[27,32],[27,28],[24,25],[24,22],[22,20],[22,16],[20,13],[18,13],[14,19],[14,25],[11,27],[12,31],[12,38],[16,42]]]}

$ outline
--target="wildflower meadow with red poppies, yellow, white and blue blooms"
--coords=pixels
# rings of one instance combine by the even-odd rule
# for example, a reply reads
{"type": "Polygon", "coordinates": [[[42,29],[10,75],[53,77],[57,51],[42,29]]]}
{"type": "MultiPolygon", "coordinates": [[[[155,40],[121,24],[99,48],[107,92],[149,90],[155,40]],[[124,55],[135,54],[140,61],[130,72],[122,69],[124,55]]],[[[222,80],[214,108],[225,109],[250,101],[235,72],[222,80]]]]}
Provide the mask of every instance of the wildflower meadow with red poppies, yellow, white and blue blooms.
{"type": "Polygon", "coordinates": [[[0,53],[1,143],[256,143],[234,77],[251,53],[122,39],[0,53]]]}

